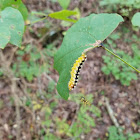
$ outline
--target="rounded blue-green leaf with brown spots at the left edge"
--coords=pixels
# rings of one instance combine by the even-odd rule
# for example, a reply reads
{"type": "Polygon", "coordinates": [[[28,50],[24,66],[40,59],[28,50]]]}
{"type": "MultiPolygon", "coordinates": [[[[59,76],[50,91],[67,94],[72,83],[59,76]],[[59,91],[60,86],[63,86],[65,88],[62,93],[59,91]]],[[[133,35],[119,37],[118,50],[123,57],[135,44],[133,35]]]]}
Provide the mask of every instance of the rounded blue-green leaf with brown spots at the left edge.
{"type": "Polygon", "coordinates": [[[9,42],[20,46],[24,32],[24,20],[21,13],[11,7],[5,8],[0,13],[0,48],[9,42]]]}

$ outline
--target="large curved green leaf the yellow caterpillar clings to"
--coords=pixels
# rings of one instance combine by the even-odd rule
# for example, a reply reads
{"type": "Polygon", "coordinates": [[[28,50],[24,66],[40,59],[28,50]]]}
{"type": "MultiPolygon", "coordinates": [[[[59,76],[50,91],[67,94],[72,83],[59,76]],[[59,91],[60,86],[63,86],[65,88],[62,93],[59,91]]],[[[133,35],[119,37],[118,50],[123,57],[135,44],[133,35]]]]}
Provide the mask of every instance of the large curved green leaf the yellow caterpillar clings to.
{"type": "Polygon", "coordinates": [[[67,31],[54,58],[54,68],[59,72],[57,91],[64,99],[69,97],[70,71],[76,59],[90,44],[106,39],[122,21],[118,14],[92,14],[81,18],[67,31]]]}

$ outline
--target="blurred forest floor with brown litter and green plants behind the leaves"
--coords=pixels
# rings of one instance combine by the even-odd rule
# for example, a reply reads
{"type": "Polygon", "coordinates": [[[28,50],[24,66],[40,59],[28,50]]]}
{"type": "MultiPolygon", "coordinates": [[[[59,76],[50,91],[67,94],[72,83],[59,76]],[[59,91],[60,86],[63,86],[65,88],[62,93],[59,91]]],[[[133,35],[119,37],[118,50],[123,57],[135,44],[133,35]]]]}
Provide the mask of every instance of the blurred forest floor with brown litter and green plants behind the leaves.
{"type": "MultiPolygon", "coordinates": [[[[131,23],[132,16],[140,8],[139,1],[137,5],[130,4],[129,0],[127,5],[119,0],[71,0],[69,5],[59,4],[57,0],[24,0],[23,3],[29,10],[30,22],[40,19],[37,14],[60,11],[62,7],[69,10],[76,8],[79,11],[77,18],[91,13],[121,14],[125,22],[104,44],[140,69],[140,30],[131,23]]],[[[53,69],[54,54],[71,25],[47,18],[26,27],[21,48],[8,44],[2,51],[0,139],[138,139],[140,76],[102,48],[88,53],[78,85],[70,93],[69,100],[65,101],[57,94],[58,73],[53,69]],[[7,66],[7,72],[3,65],[7,66]],[[10,80],[11,76],[16,81],[15,85],[10,80]],[[81,96],[92,105],[82,104],[81,96]],[[123,128],[122,133],[118,132],[109,116],[105,98],[109,99],[117,122],[123,128]]]]}

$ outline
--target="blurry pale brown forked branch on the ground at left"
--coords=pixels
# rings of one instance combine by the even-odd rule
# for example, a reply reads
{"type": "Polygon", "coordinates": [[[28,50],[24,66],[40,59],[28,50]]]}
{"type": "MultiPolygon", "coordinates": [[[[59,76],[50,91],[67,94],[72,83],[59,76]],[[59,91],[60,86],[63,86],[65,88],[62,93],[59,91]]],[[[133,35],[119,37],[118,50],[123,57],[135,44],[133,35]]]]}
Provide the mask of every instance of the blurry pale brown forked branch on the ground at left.
{"type": "MultiPolygon", "coordinates": [[[[13,53],[14,55],[14,53],[13,53]]],[[[13,56],[11,57],[11,59],[13,58],[13,56]]],[[[16,108],[16,140],[20,140],[21,137],[21,129],[20,129],[20,106],[23,107],[28,113],[30,113],[32,115],[33,121],[35,121],[37,124],[39,124],[42,128],[44,128],[45,131],[47,131],[47,129],[45,128],[45,126],[43,124],[41,124],[39,121],[36,121],[35,119],[35,114],[32,112],[32,110],[30,110],[28,107],[26,107],[20,100],[20,98],[17,95],[17,91],[19,91],[19,88],[17,87],[17,82],[18,84],[20,84],[20,87],[23,90],[23,93],[26,95],[27,98],[29,98],[28,94],[26,93],[26,89],[27,89],[27,84],[25,84],[25,81],[22,81],[24,83],[24,86],[22,85],[23,83],[21,83],[19,81],[19,79],[17,79],[16,77],[14,77],[14,74],[12,72],[12,70],[10,69],[10,65],[8,65],[8,62],[5,58],[5,56],[3,55],[2,50],[0,50],[0,66],[4,72],[4,75],[7,77],[7,79],[9,81],[11,81],[11,93],[13,95],[14,98],[14,103],[15,103],[15,108],[16,108]]],[[[51,79],[53,80],[53,79],[51,79]]]]}

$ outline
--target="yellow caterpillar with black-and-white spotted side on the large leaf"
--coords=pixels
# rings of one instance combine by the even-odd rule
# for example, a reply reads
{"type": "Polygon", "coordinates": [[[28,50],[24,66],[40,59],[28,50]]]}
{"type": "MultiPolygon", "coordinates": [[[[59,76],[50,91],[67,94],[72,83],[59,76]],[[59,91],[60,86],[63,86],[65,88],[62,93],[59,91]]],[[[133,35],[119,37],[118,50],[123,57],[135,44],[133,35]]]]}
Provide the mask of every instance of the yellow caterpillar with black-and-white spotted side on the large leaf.
{"type": "Polygon", "coordinates": [[[86,58],[87,58],[87,56],[84,53],[82,53],[82,55],[75,61],[74,65],[71,69],[71,72],[70,72],[71,78],[68,83],[68,88],[70,91],[72,89],[74,89],[74,87],[77,85],[80,69],[81,69],[83,63],[85,62],[86,58]]]}

